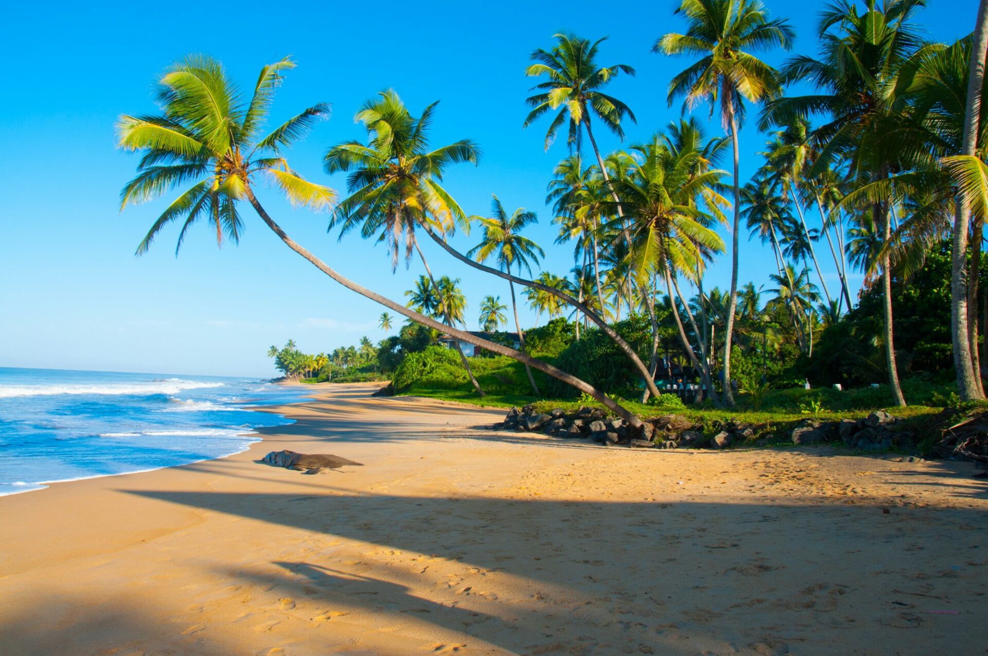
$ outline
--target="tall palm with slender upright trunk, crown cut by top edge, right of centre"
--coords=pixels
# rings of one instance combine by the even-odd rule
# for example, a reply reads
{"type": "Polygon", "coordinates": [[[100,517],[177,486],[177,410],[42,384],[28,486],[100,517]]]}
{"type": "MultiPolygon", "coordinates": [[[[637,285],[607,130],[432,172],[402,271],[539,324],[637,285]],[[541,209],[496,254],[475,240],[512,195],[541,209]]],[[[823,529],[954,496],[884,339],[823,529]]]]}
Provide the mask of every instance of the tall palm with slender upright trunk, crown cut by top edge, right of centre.
{"type": "Polygon", "coordinates": [[[737,304],[741,222],[738,119],[744,116],[742,100],[758,103],[782,92],[776,70],[751,52],[773,47],[788,49],[793,32],[784,20],[770,21],[760,0],[682,0],[676,11],[687,18],[686,34],[667,34],[652,49],[666,54],[697,54],[701,58],[669,83],[669,105],[680,96],[685,97],[688,108],[708,100],[712,114],[714,104],[719,101],[721,122],[730,133],[734,148],[731,291],[723,358],[724,397],[733,406],[731,338],[737,304]]]}

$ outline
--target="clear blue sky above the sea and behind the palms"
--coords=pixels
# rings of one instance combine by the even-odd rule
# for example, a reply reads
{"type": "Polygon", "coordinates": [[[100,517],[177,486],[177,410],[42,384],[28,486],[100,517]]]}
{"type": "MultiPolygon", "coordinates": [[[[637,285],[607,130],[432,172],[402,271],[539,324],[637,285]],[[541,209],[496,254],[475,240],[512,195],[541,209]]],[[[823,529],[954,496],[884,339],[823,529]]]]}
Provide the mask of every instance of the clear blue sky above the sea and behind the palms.
{"type": "MultiPolygon", "coordinates": [[[[492,193],[509,209],[535,209],[540,220],[530,236],[546,250],[541,268],[562,273],[572,266],[571,247],[553,246],[556,230],[544,196],[566,146],[560,141],[543,150],[547,123],[522,128],[534,84],[523,73],[529,54],[549,47],[556,32],[610,35],[601,63],[637,69],[610,89],[638,119],[626,126],[625,145],[644,140],[680,115],[679,106],[667,106],[666,88],[689,60],[650,52],[656,38],[682,28],[673,16],[676,4],[579,1],[566,4],[564,15],[560,5],[531,2],[432,2],[414,10],[407,3],[327,3],[283,19],[270,3],[241,2],[210,23],[201,10],[15,3],[5,9],[8,29],[0,41],[8,70],[0,109],[0,366],[269,375],[264,352],[289,337],[317,352],[362,335],[384,336],[376,327],[384,308],[290,252],[249,207],[238,247],[217,250],[203,224],[177,259],[177,228],[149,254],[134,257],[166,201],[119,211],[120,189],[136,157],[116,149],[113,126],[122,113],[154,110],[155,76],[183,55],[219,58],[243,88],[261,65],[292,55],[298,67],[279,92],[272,120],[319,101],[333,105],[332,119],[289,161],[341,193],[343,179],[322,173],[321,155],[339,141],[364,138],[353,116],[365,100],[394,88],[414,113],[442,101],[433,142],[469,137],[484,153],[478,167],[453,168],[447,188],[470,213],[487,213],[492,193]]],[[[953,41],[972,29],[976,0],[928,4],[920,22],[931,40],[953,41]]],[[[796,29],[793,51],[813,52],[815,16],[824,3],[767,5],[796,29]]],[[[783,57],[766,56],[777,65],[783,57]]],[[[707,119],[705,110],[698,114],[707,119]]],[[[719,133],[719,124],[709,123],[709,134],[719,133]]],[[[597,134],[603,149],[620,146],[603,130],[597,134]]],[[[742,182],[757,168],[755,153],[765,138],[754,126],[743,130],[742,182]]],[[[338,242],[327,234],[326,215],[293,210],[274,191],[265,190],[262,200],[297,241],[367,287],[402,298],[422,273],[413,263],[392,274],[382,247],[357,235],[338,242]]],[[[475,238],[454,243],[465,250],[475,238]]],[[[462,281],[471,328],[484,295],[507,301],[507,284],[432,246],[426,251],[434,272],[462,281]]],[[[728,262],[723,257],[711,267],[707,287],[729,285],[728,262]]],[[[769,250],[744,243],[742,282],[763,284],[773,267],[769,250]]],[[[531,325],[534,314],[527,308],[521,314],[531,325]]]]}

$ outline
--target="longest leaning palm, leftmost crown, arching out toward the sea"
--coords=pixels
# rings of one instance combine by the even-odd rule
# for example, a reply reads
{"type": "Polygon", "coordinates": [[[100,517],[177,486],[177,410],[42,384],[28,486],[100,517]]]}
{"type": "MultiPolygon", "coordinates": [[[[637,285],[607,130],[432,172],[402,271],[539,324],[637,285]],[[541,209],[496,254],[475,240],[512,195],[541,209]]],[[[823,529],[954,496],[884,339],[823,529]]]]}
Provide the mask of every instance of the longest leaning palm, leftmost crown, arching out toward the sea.
{"type": "Polygon", "coordinates": [[[183,219],[180,238],[198,219],[206,219],[216,227],[217,239],[222,239],[225,230],[235,241],[242,227],[237,204],[247,201],[288,248],[340,285],[429,328],[535,367],[593,396],[631,426],[640,428],[642,424],[638,417],[586,381],[515,349],[443,324],[362,287],[341,276],[288,236],[254,194],[254,185],[262,177],[278,187],[294,205],[324,209],[335,198],[332,190],[308,182],[288,168],[283,155],[283,150],[297,141],[307,127],[326,116],[326,106],[313,106],[266,135],[260,130],[284,71],[293,66],[293,62],[283,59],[264,67],[253,87],[251,100],[244,104],[217,61],[188,57],[172,66],[159,80],[161,114],[121,118],[118,123],[120,146],[143,153],[137,166],[137,177],[124,186],[123,206],[157,198],[181,185],[192,185],[154,222],[138,246],[138,254],[147,250],[166,225],[179,219],[183,219]]]}

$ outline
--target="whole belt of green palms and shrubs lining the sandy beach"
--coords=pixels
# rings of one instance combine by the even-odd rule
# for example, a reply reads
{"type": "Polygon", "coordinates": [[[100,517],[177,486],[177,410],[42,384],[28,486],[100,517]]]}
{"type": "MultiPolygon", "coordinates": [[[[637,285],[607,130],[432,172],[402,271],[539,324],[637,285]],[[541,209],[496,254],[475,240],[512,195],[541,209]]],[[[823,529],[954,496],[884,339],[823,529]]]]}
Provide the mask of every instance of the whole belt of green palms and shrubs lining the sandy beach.
{"type": "MultiPolygon", "coordinates": [[[[261,129],[294,66],[288,59],[263,68],[246,100],[218,62],[187,58],[159,79],[158,115],[121,118],[121,147],[142,155],[122,205],[180,190],[137,251],[175,221],[179,245],[200,220],[217,242],[236,242],[246,202],[323,274],[408,319],[376,346],[365,339],[314,356],[290,342],[273,347],[276,367],[305,380],[390,378],[399,393],[486,404],[593,403],[633,428],[642,415],[683,407],[796,421],[889,405],[919,417],[984,398],[988,121],[979,108],[988,107],[988,12],[971,36],[927,43],[917,23],[922,0],[828,5],[815,53],[776,70],[758,56],[787,49],[794,35],[761,2],[679,5],[686,32],[659,38],[654,51],[691,57],[672,76],[668,100],[682,99],[687,111],[708,104],[716,115],[709,126],[685,117],[629,134],[634,114],[607,87],[634,69],[600,65],[604,40],[556,35],[524,71],[537,80],[524,124],[549,120],[546,148],[567,130],[570,152],[546,171],[545,201],[556,244],[573,246],[569,272],[535,275],[545,251],[522,234],[538,220],[534,211],[506,210],[496,196],[489,216],[457,204],[444,175],[476,166],[480,151],[468,138],[430,143],[435,103],[416,116],[388,90],[360,108],[367,138],[337,143],[323,158],[326,173],[347,175],[345,199],[298,176],[285,151],[328,107],[261,129]],[[766,139],[745,182],[739,129],[752,118],[766,139]],[[628,143],[601,152],[600,126],[628,143]],[[707,134],[719,128],[726,136],[707,134]],[[586,145],[592,158],[583,157],[586,145]],[[254,195],[261,179],[293,205],[331,210],[340,236],[356,230],[385,243],[392,270],[401,255],[418,255],[426,273],[408,304],[342,277],[294,242],[254,195]],[[772,253],[775,273],[764,283],[738,280],[742,220],[772,253]],[[479,243],[464,255],[449,237],[471,225],[481,228],[479,243]],[[466,294],[459,279],[433,274],[423,234],[507,282],[517,349],[516,335],[494,332],[508,319],[507,296],[481,303],[485,334],[466,330],[466,294]],[[730,288],[704,287],[728,255],[730,288]],[[864,277],[857,299],[849,285],[856,271],[864,277]],[[519,295],[548,322],[523,326],[519,295]],[[442,335],[452,349],[439,344],[442,335]],[[465,357],[464,342],[477,356],[465,357]],[[907,400],[923,407],[903,410],[907,400]]],[[[378,325],[390,331],[395,321],[385,311],[378,325]]]]}

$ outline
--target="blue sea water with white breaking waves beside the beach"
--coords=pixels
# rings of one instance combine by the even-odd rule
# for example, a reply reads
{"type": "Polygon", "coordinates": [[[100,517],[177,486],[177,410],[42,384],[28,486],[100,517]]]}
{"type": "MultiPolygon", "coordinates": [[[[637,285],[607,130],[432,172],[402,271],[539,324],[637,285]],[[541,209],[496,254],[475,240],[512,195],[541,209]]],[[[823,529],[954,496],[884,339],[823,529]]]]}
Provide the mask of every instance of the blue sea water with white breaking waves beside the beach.
{"type": "Polygon", "coordinates": [[[291,423],[252,407],[304,393],[246,378],[0,368],[0,496],[244,451],[258,441],[251,429],[291,423]]]}

